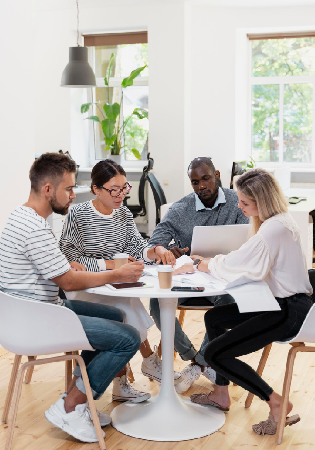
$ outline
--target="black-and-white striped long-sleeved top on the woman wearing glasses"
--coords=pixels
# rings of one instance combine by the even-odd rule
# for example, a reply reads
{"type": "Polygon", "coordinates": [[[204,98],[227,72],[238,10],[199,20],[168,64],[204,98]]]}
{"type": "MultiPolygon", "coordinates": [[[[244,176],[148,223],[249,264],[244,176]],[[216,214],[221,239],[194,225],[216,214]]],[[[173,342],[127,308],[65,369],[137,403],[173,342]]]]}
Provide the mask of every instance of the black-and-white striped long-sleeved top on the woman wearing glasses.
{"type": "Polygon", "coordinates": [[[146,253],[151,246],[123,205],[105,215],[96,210],[92,200],[75,204],[66,217],[59,247],[69,262],[77,261],[87,271],[105,270],[104,260],[113,259],[115,253],[127,253],[150,262],[146,253]]]}

